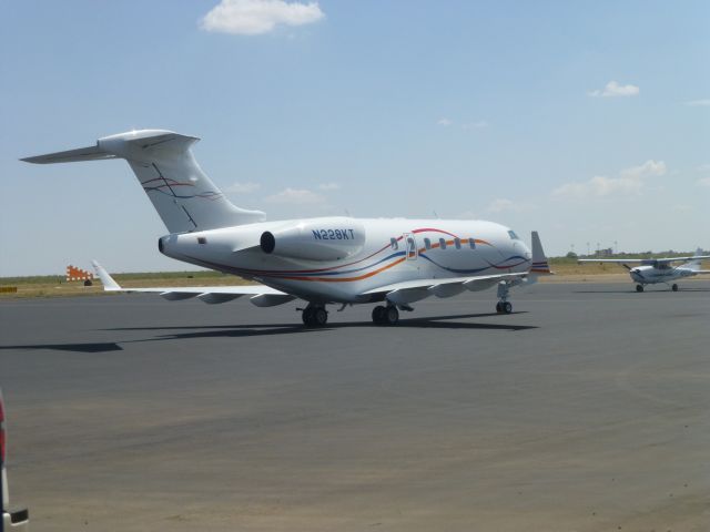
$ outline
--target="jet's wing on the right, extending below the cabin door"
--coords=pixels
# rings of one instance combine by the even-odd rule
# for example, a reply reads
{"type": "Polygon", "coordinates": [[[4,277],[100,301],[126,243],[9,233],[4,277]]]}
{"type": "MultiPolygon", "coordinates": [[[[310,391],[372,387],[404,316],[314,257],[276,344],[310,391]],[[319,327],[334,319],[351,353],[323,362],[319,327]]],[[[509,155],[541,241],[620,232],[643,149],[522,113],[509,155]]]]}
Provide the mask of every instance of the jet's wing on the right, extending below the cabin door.
{"type": "MultiPolygon", "coordinates": [[[[485,290],[501,280],[520,280],[530,276],[527,272],[518,274],[480,275],[476,277],[452,277],[447,279],[417,279],[379,286],[363,293],[363,296],[385,294],[387,300],[397,305],[418,301],[432,295],[450,297],[464,290],[485,290]]],[[[532,277],[532,276],[530,276],[532,277]]]]}

